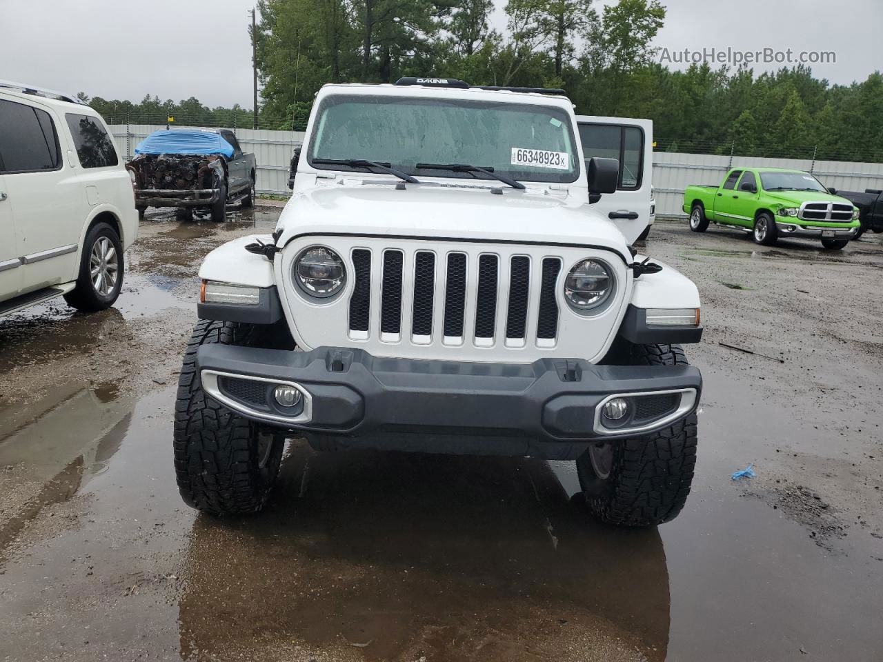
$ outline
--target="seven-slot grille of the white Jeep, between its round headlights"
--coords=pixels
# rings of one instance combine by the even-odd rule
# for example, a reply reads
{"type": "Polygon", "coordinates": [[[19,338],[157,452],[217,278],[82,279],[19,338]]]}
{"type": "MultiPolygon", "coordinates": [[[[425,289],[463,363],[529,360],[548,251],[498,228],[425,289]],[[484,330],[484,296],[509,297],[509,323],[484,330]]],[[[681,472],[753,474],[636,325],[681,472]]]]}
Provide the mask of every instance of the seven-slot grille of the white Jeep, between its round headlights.
{"type": "Polygon", "coordinates": [[[386,249],[379,254],[366,249],[352,252],[355,283],[350,298],[349,329],[353,339],[367,337],[370,315],[377,314],[370,307],[372,260],[375,259],[381,260],[381,342],[402,340],[403,316],[408,315],[408,339],[418,345],[441,340],[449,346],[468,341],[476,347],[491,347],[501,340],[498,337],[501,331],[507,347],[524,347],[529,337],[541,347],[555,344],[558,332],[555,287],[561,271],[560,258],[547,257],[536,264],[527,255],[519,254],[501,256],[491,252],[452,251],[437,258],[431,251],[418,250],[405,256],[398,249],[386,249]],[[412,277],[405,277],[405,268],[409,268],[412,277]],[[472,295],[467,291],[470,271],[474,273],[472,295]],[[441,299],[439,290],[444,294],[441,299]],[[537,295],[535,327],[529,329],[529,302],[537,295]],[[441,315],[436,311],[436,304],[443,305],[441,315]],[[505,314],[498,324],[501,306],[505,314]],[[469,312],[474,312],[474,320],[467,328],[469,312]],[[466,337],[467,331],[472,332],[472,337],[466,337]]]}

